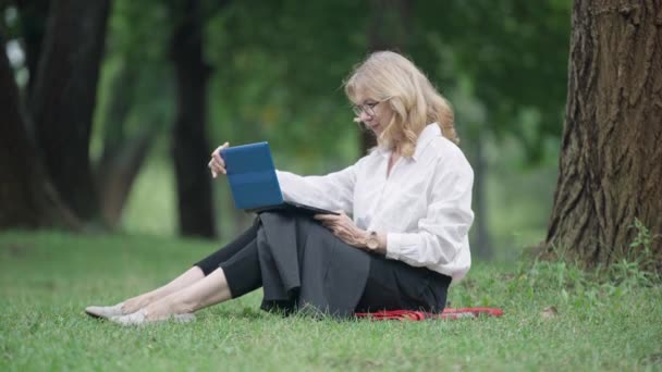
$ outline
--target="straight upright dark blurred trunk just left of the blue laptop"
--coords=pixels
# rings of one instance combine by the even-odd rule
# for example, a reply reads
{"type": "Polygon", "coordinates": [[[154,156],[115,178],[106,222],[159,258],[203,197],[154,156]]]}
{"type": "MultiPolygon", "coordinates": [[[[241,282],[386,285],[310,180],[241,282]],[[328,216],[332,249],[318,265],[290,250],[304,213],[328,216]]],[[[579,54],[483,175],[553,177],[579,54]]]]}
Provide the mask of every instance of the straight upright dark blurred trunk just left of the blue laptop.
{"type": "Polygon", "coordinates": [[[200,2],[185,0],[175,26],[171,52],[177,84],[177,116],[173,157],[177,181],[180,232],[186,236],[216,237],[211,179],[207,163],[207,82],[210,67],[203,60],[200,2]]]}

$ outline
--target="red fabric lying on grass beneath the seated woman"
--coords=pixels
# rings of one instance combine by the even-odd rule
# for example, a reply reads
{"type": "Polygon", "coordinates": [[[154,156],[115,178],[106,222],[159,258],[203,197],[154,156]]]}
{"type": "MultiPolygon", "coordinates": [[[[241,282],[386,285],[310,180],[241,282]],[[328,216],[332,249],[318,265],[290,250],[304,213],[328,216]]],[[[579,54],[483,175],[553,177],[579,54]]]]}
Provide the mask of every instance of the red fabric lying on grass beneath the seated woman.
{"type": "Polygon", "coordinates": [[[377,312],[357,312],[357,318],[366,318],[370,320],[427,320],[427,319],[464,319],[483,317],[501,317],[503,310],[498,308],[462,308],[462,309],[444,309],[442,313],[432,313],[414,310],[390,310],[377,312]]]}

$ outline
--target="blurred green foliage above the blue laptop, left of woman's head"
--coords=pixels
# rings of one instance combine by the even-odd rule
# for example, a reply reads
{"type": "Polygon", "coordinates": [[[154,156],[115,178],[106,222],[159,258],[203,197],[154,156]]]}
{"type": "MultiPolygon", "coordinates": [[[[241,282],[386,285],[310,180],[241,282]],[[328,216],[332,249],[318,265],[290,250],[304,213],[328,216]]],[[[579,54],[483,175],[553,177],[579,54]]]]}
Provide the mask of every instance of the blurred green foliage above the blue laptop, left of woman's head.
{"type": "Polygon", "coordinates": [[[295,158],[301,171],[354,160],[356,127],[341,83],[365,53],[357,40],[364,32],[354,25],[361,12],[344,0],[246,1],[212,17],[213,135],[235,144],[268,139],[277,158],[295,158]]]}

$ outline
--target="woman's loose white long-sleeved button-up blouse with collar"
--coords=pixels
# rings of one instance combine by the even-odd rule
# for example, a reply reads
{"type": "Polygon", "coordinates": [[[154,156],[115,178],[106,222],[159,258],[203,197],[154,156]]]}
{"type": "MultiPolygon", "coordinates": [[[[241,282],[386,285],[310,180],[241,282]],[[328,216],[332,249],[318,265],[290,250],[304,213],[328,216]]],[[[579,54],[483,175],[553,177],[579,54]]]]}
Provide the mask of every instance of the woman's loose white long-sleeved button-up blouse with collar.
{"type": "Polygon", "coordinates": [[[390,156],[376,148],[324,176],[278,171],[283,198],[343,210],[358,227],[387,234],[387,258],[462,278],[471,265],[471,166],[436,123],[422,131],[414,156],[400,158],[387,176],[390,156]]]}

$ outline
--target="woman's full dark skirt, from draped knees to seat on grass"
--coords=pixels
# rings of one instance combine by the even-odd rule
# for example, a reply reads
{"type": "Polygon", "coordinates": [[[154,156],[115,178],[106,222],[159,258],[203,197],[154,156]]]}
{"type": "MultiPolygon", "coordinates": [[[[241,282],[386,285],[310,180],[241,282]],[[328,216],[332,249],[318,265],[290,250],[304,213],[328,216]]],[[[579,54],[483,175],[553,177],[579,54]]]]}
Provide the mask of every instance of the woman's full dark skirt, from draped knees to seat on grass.
{"type": "Polygon", "coordinates": [[[352,247],[305,215],[269,212],[258,219],[263,310],[344,318],[444,308],[446,275],[352,247]]]}

